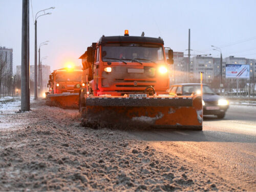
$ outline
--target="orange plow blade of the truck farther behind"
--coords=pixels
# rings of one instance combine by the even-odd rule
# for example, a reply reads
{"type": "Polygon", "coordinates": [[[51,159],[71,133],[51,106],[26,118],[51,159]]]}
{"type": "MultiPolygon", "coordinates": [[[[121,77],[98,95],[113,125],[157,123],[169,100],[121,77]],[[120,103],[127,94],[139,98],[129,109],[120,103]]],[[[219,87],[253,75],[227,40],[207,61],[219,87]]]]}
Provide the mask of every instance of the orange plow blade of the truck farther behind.
{"type": "Polygon", "coordinates": [[[63,109],[78,109],[78,97],[79,93],[48,94],[46,96],[46,104],[63,109]]]}

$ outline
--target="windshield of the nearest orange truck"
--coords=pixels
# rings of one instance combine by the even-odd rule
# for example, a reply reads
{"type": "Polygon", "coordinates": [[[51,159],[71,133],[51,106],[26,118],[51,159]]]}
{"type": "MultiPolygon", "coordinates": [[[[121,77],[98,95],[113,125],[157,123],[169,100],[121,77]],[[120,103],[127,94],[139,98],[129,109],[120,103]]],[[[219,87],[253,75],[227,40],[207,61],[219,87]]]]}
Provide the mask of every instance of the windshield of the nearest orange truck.
{"type": "Polygon", "coordinates": [[[164,61],[163,48],[149,44],[105,44],[102,46],[102,61],[139,60],[143,62],[164,61]]]}

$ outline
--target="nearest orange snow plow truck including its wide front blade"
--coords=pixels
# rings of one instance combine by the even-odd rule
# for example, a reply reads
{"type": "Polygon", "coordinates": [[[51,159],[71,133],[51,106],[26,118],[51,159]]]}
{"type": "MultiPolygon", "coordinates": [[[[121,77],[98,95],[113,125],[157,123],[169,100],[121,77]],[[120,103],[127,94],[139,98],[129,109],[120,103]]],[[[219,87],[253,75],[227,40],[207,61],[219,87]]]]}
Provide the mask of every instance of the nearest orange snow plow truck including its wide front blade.
{"type": "Polygon", "coordinates": [[[153,126],[202,130],[202,97],[173,96],[168,65],[173,50],[164,51],[162,38],[102,36],[82,59],[79,112],[86,121],[111,125],[153,126]]]}

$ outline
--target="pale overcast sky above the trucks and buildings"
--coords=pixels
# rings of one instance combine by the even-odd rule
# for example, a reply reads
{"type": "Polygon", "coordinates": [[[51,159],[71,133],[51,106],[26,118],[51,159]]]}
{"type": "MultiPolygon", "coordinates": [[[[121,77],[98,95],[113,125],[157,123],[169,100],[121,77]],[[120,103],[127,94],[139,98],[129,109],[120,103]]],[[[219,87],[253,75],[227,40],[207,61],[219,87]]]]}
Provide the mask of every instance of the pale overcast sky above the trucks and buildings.
{"type": "MultiPolygon", "coordinates": [[[[191,30],[191,54],[211,53],[221,47],[223,57],[256,58],[256,1],[93,1],[30,0],[30,65],[34,65],[34,18],[36,12],[49,7],[51,15],[37,20],[37,42],[49,40],[41,47],[43,65],[51,70],[71,61],[81,65],[78,57],[100,36],[130,35],[159,37],[174,51],[188,49],[191,30]],[[33,14],[32,14],[32,7],[33,14]]],[[[20,65],[22,40],[22,0],[0,0],[0,46],[13,49],[13,65],[20,65]]],[[[14,69],[15,71],[15,69],[14,69]]]]}

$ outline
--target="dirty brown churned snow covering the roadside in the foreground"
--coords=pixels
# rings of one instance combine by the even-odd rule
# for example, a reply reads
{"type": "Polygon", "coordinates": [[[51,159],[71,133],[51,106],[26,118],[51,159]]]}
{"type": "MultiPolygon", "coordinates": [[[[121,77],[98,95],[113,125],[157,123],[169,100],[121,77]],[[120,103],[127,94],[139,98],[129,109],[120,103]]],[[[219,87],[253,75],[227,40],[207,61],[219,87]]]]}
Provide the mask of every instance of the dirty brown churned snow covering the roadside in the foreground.
{"type": "Polygon", "coordinates": [[[127,132],[82,127],[76,110],[31,106],[5,119],[16,130],[0,130],[0,191],[242,190],[127,132]]]}

